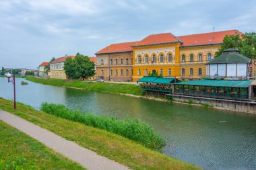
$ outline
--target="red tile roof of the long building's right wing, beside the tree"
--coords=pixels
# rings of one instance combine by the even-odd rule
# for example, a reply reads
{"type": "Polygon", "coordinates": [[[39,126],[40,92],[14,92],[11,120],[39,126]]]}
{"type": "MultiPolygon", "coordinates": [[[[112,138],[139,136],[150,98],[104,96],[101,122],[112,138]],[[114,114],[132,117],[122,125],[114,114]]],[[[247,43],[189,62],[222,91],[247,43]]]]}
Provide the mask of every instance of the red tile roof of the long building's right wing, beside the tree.
{"type": "Polygon", "coordinates": [[[207,45],[207,44],[221,44],[226,35],[232,34],[243,34],[238,30],[227,30],[222,32],[209,32],[204,34],[193,34],[187,36],[179,36],[183,41],[181,46],[198,46],[198,45],[207,45]]]}

